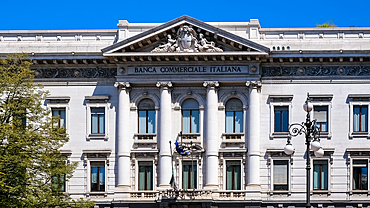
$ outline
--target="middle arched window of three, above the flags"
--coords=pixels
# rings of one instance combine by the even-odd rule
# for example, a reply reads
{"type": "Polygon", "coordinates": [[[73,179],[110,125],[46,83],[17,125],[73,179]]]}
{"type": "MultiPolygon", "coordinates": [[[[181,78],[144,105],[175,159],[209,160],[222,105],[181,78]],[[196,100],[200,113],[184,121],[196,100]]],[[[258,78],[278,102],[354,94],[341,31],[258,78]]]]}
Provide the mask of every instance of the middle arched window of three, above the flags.
{"type": "Polygon", "coordinates": [[[182,132],[199,133],[199,104],[194,99],[182,104],[182,132]]]}

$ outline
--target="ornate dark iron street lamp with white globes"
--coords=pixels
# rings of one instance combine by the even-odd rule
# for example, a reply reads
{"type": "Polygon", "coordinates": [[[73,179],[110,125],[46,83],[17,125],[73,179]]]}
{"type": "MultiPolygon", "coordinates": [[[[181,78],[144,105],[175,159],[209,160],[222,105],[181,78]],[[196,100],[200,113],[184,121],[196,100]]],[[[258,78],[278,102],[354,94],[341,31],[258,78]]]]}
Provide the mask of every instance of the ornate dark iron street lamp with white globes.
{"type": "Polygon", "coordinates": [[[292,137],[296,137],[298,135],[305,135],[306,138],[306,207],[311,207],[310,204],[310,146],[311,149],[314,151],[316,157],[322,157],[324,155],[324,150],[321,148],[320,145],[320,130],[316,126],[316,120],[312,120],[310,118],[310,112],[313,109],[313,105],[310,103],[310,95],[307,93],[306,102],[303,105],[303,109],[307,112],[306,114],[306,121],[300,123],[293,123],[289,125],[289,136],[286,146],[284,147],[284,152],[287,155],[291,155],[294,153],[294,147],[290,143],[292,137]]]}

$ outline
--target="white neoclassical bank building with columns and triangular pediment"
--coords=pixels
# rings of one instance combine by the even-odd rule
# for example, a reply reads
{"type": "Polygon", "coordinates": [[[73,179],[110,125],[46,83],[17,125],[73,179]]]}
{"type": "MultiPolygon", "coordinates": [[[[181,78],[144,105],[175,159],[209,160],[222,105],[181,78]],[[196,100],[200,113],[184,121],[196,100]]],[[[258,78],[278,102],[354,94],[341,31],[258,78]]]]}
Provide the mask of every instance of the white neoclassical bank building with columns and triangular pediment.
{"type": "Polygon", "coordinates": [[[250,22],[129,23],[0,31],[26,52],[78,167],[64,191],[99,207],[303,207],[310,94],[324,156],[314,207],[370,206],[370,28],[250,22]],[[180,148],[176,151],[175,142],[180,148]],[[170,184],[173,176],[174,183],[170,184]]]}

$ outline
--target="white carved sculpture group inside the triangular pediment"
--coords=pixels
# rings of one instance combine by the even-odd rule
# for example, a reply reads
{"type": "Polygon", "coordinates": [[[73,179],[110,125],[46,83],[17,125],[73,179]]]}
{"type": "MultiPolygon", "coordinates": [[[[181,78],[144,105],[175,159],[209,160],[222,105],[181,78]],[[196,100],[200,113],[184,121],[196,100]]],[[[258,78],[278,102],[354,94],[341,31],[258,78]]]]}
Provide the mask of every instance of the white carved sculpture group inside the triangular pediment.
{"type": "Polygon", "coordinates": [[[152,53],[164,52],[223,52],[215,46],[213,41],[208,41],[202,33],[199,34],[188,25],[183,25],[176,33],[175,39],[167,35],[167,43],[163,43],[152,50],[152,53]],[[198,39],[199,38],[199,39],[198,39]]]}

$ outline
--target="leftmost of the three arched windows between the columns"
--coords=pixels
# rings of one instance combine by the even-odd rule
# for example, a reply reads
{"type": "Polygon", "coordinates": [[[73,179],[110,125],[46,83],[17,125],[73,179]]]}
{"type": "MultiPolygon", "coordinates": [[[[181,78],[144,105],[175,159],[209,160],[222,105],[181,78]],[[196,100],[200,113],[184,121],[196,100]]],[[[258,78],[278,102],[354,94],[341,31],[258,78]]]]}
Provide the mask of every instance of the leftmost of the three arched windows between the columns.
{"type": "Polygon", "coordinates": [[[139,110],[139,133],[155,133],[155,105],[150,99],[140,101],[139,110]]]}

